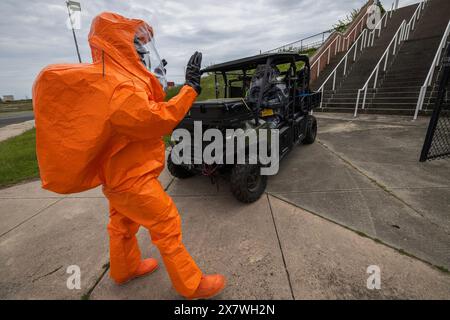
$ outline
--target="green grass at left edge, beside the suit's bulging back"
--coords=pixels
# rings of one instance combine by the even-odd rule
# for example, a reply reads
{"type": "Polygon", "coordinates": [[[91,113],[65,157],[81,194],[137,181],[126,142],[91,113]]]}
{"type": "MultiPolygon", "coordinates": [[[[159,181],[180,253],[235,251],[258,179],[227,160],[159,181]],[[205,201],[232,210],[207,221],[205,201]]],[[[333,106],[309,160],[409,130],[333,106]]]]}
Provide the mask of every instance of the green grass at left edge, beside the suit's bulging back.
{"type": "Polygon", "coordinates": [[[35,129],[0,142],[0,187],[38,177],[35,129]]]}

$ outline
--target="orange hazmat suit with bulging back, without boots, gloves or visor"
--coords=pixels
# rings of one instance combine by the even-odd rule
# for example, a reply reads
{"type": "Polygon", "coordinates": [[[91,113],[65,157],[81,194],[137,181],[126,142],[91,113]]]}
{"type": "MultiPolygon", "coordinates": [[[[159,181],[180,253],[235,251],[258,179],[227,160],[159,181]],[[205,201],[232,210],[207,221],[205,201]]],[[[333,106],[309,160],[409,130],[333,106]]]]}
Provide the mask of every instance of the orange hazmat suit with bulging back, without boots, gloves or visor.
{"type": "MultiPolygon", "coordinates": [[[[89,43],[93,63],[53,65],[33,88],[37,153],[43,187],[74,193],[103,185],[110,203],[111,277],[131,278],[142,261],[136,233],[147,228],[175,289],[189,297],[202,272],[182,243],[181,219],[157,180],[164,135],[197,97],[190,86],[168,102],[133,44],[141,20],[97,16],[89,43]]],[[[153,35],[153,34],[151,34],[153,35]]]]}

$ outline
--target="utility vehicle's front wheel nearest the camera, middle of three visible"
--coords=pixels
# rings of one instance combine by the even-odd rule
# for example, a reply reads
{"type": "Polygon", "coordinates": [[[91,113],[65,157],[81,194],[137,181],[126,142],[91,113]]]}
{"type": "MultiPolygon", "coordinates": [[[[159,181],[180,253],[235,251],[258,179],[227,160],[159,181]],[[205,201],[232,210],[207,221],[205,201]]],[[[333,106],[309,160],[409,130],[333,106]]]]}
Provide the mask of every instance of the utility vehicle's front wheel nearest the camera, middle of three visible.
{"type": "Polygon", "coordinates": [[[267,176],[261,175],[259,165],[236,165],[231,172],[231,192],[243,203],[253,203],[263,195],[267,176]]]}

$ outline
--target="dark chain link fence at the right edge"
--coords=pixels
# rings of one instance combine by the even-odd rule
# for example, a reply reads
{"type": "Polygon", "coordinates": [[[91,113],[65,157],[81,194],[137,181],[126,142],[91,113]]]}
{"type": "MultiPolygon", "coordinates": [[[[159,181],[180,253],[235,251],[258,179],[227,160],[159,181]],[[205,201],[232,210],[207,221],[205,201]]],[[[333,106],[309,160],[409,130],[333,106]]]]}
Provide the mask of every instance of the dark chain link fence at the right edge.
{"type": "Polygon", "coordinates": [[[439,90],[420,161],[450,158],[450,43],[443,57],[439,90]]]}

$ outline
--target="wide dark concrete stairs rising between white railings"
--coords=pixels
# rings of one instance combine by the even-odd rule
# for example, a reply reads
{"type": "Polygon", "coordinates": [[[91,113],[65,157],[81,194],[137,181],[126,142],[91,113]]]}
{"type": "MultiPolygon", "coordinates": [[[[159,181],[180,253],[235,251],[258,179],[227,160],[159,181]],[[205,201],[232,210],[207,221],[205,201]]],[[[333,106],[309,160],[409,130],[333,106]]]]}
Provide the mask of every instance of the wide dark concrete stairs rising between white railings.
{"type": "MultiPolygon", "coordinates": [[[[354,112],[358,89],[364,86],[402,21],[409,21],[416,8],[417,4],[414,4],[393,13],[381,37],[375,40],[374,46],[358,53],[356,61],[349,65],[345,77],[337,77],[336,90],[331,90],[331,81],[330,85],[325,87],[323,109],[318,111],[354,112]]],[[[428,3],[421,19],[416,22],[416,28],[410,39],[400,45],[394,58],[390,58],[387,72],[380,72],[377,89],[368,90],[365,109],[360,108],[359,113],[407,115],[414,113],[420,87],[428,74],[449,18],[449,0],[431,0],[428,3]]],[[[329,75],[336,64],[334,66],[330,64],[325,72],[329,75]],[[331,70],[328,70],[329,68],[331,70]]],[[[319,78],[322,82],[316,86],[320,87],[325,79],[325,76],[323,79],[319,78]]],[[[362,98],[361,96],[360,105],[362,98]]],[[[435,98],[436,92],[429,90],[423,113],[432,111],[430,106],[433,105],[435,98]]]]}

